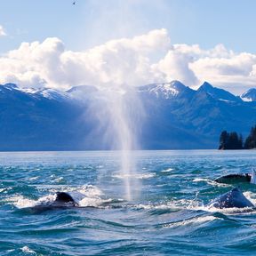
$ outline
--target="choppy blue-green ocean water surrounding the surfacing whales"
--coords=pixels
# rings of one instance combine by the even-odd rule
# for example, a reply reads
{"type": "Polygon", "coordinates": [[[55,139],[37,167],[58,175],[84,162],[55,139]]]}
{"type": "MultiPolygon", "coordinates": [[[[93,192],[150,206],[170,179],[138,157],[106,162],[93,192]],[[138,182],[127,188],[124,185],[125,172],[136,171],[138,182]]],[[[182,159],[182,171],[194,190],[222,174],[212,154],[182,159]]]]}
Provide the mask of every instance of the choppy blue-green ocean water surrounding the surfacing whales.
{"type": "MultiPolygon", "coordinates": [[[[253,255],[256,211],[209,209],[256,151],[137,151],[132,200],[118,152],[0,153],[0,255],[253,255]],[[54,193],[81,207],[38,210],[54,193]],[[78,200],[78,199],[77,199],[78,200]]],[[[256,185],[237,184],[256,204],[256,185]]]]}

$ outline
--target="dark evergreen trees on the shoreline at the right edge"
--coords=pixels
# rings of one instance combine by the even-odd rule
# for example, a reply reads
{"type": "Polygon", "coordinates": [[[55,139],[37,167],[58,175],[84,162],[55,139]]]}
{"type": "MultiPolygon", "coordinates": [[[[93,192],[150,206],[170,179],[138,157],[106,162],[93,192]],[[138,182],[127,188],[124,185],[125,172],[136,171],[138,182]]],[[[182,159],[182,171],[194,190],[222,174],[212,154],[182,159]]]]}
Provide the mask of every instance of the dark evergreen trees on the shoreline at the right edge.
{"type": "Polygon", "coordinates": [[[219,149],[252,149],[256,148],[256,125],[252,127],[249,136],[243,141],[241,134],[237,132],[223,131],[220,133],[219,149]]]}

